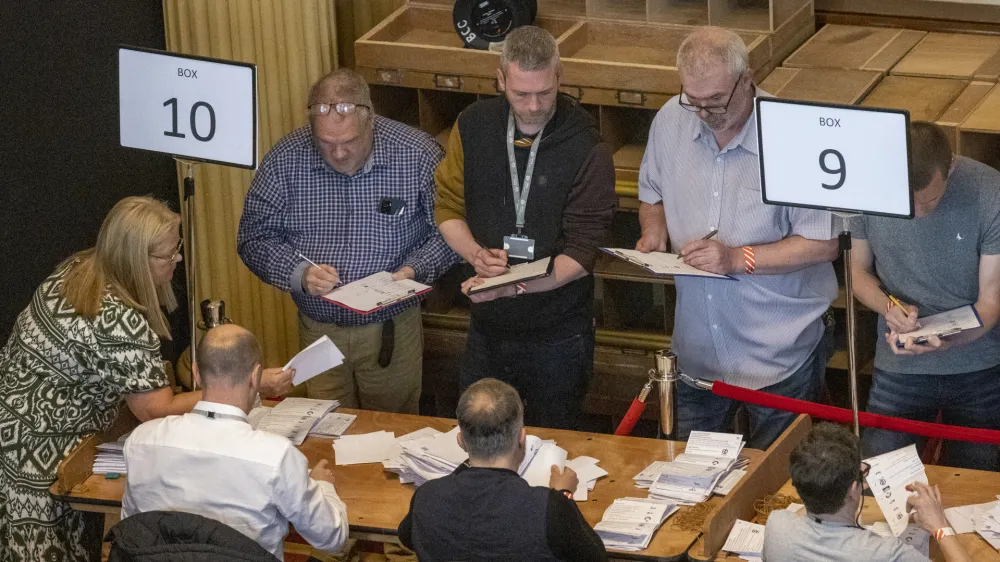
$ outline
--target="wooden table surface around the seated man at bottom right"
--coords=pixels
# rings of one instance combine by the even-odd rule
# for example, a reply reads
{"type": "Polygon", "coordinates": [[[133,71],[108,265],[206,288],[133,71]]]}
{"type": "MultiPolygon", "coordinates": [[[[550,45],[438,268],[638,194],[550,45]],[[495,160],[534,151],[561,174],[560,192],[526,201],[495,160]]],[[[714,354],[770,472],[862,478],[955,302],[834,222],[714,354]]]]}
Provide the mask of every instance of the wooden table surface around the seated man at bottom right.
{"type": "MultiPolygon", "coordinates": [[[[962,468],[951,468],[947,466],[927,466],[927,479],[931,484],[937,485],[941,489],[941,499],[944,507],[958,507],[978,503],[986,503],[996,500],[997,493],[1000,493],[1000,473],[987,472],[982,470],[968,470],[962,468]]],[[[778,491],[786,496],[798,497],[792,481],[789,479],[778,491]]],[[[801,503],[801,502],[800,502],[801,503]]],[[[875,498],[865,497],[865,506],[861,511],[861,522],[870,525],[877,521],[885,521],[882,510],[875,503],[875,498]]],[[[755,523],[761,521],[754,518],[755,523]]],[[[1000,553],[989,545],[985,540],[975,533],[965,533],[958,536],[969,557],[976,562],[997,562],[1000,561],[1000,553]]],[[[944,560],[941,549],[937,542],[931,539],[931,560],[944,560]]],[[[738,562],[740,558],[735,554],[720,552],[715,558],[716,561],[738,562]]]]}

